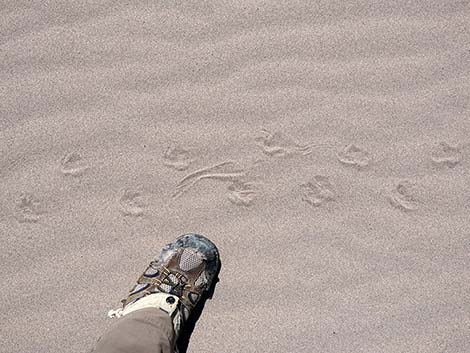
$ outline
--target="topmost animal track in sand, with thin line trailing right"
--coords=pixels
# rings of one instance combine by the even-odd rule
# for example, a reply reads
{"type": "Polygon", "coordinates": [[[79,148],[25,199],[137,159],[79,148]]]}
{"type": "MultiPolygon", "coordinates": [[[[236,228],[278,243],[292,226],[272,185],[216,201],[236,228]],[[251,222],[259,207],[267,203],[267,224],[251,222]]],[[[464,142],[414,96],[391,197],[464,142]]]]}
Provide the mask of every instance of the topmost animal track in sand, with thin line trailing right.
{"type": "Polygon", "coordinates": [[[280,132],[271,133],[266,129],[261,130],[262,135],[255,141],[263,149],[263,153],[271,157],[283,157],[292,154],[308,155],[314,147],[331,147],[327,145],[299,144],[280,132]]]}

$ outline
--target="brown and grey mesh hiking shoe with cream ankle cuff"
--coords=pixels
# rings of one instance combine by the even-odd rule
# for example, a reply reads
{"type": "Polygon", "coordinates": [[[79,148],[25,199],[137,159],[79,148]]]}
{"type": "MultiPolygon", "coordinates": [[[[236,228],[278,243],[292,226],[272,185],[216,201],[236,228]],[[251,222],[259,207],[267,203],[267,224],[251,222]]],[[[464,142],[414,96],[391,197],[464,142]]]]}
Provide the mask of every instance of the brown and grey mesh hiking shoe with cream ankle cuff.
{"type": "Polygon", "coordinates": [[[219,251],[209,239],[182,235],[162,248],[121,301],[122,308],[110,310],[108,316],[156,307],[170,315],[177,337],[191,311],[210,291],[219,268],[219,251]]]}

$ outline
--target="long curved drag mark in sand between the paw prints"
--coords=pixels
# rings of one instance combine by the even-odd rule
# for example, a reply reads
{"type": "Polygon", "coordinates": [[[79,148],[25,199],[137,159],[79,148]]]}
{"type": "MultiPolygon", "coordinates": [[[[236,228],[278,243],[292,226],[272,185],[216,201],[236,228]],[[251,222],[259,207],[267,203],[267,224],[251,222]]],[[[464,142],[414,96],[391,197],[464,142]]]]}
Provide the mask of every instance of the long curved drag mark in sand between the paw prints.
{"type": "Polygon", "coordinates": [[[244,175],[245,171],[235,168],[235,163],[232,161],[222,162],[207,168],[202,168],[181,179],[181,181],[176,185],[176,191],[173,194],[173,198],[176,199],[180,197],[184,192],[188,191],[197,182],[203,179],[235,182],[244,175]]]}

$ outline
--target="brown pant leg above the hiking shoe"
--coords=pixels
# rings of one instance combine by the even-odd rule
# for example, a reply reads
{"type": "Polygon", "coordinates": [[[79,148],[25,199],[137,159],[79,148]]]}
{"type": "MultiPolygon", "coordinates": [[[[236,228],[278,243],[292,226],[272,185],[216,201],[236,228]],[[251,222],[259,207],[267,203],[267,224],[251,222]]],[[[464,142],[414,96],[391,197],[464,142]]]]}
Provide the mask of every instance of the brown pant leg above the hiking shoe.
{"type": "Polygon", "coordinates": [[[114,320],[92,352],[173,353],[173,324],[164,311],[139,309],[114,320]]]}

